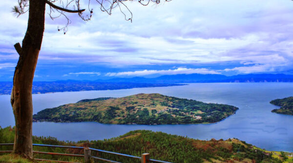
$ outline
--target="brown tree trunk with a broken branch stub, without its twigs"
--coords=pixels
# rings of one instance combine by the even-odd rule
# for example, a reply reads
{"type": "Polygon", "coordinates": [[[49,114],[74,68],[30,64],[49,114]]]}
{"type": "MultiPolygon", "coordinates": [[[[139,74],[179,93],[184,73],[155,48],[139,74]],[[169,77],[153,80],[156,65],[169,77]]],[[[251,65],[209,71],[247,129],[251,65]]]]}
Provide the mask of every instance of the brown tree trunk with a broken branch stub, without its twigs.
{"type": "Polygon", "coordinates": [[[11,105],[15,117],[14,153],[33,158],[32,145],[32,84],[42,44],[45,21],[45,1],[29,0],[29,17],[22,48],[15,45],[20,54],[13,78],[11,105]]]}

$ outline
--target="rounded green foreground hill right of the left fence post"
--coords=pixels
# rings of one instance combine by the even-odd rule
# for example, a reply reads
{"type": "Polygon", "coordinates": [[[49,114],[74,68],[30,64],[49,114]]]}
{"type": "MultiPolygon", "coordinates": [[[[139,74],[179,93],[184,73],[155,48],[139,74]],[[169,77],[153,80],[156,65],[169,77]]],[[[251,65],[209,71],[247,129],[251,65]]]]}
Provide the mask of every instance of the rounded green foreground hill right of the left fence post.
{"type": "MultiPolygon", "coordinates": [[[[261,150],[254,150],[252,145],[237,139],[201,141],[163,132],[136,130],[118,138],[91,141],[90,143],[93,148],[136,156],[147,152],[151,158],[173,163],[233,163],[233,161],[237,161],[237,163],[262,163],[264,160],[268,160],[270,163],[281,163],[278,159],[272,158],[271,155],[266,155],[261,150]]],[[[133,162],[107,154],[100,156],[119,162],[133,162]]]]}

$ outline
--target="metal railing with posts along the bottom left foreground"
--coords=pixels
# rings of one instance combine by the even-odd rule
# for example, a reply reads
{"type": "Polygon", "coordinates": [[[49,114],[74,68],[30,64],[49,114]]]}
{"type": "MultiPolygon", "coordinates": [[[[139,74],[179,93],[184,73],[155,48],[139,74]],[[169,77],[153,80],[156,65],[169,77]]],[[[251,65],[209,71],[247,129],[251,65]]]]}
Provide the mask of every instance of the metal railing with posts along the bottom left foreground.
{"type": "MultiPolygon", "coordinates": [[[[13,143],[6,143],[6,144],[0,144],[2,145],[14,145],[13,143]]],[[[84,157],[84,163],[90,163],[91,159],[94,160],[100,160],[108,163],[120,163],[112,160],[107,160],[104,158],[96,157],[91,155],[91,151],[95,152],[102,152],[102,153],[107,153],[107,154],[112,154],[112,155],[117,155],[117,156],[123,156],[127,158],[132,158],[132,159],[137,159],[141,160],[141,163],[170,163],[170,162],[165,162],[165,161],[160,161],[160,160],[154,160],[150,159],[149,153],[143,153],[141,157],[138,156],[132,156],[132,155],[127,155],[127,154],[122,154],[122,153],[116,153],[116,152],[110,152],[106,150],[101,150],[101,149],[95,149],[95,148],[89,148],[89,147],[81,147],[81,146],[63,146],[63,145],[40,145],[40,144],[33,144],[33,146],[45,146],[45,147],[58,147],[58,148],[71,148],[71,149],[84,149],[84,154],[68,154],[68,153],[53,153],[53,152],[42,152],[42,151],[33,151],[33,153],[36,154],[48,154],[48,155],[59,155],[59,156],[70,156],[70,157],[84,157]]],[[[13,152],[12,150],[2,150],[0,153],[11,153],[13,152]]],[[[47,162],[58,162],[58,163],[73,163],[73,162],[66,162],[66,161],[57,161],[57,160],[45,160],[45,159],[35,159],[37,161],[47,161],[47,162]]]]}

